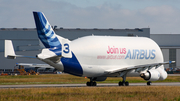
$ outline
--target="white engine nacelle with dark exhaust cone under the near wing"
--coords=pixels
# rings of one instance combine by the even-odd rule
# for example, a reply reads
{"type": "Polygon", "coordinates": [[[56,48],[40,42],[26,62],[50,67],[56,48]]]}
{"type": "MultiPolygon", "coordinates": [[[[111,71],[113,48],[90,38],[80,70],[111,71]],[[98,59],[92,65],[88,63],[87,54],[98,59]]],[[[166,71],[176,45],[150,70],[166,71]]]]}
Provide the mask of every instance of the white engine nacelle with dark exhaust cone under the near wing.
{"type": "Polygon", "coordinates": [[[140,74],[140,76],[146,81],[157,81],[160,78],[160,73],[157,70],[149,70],[140,74]]]}

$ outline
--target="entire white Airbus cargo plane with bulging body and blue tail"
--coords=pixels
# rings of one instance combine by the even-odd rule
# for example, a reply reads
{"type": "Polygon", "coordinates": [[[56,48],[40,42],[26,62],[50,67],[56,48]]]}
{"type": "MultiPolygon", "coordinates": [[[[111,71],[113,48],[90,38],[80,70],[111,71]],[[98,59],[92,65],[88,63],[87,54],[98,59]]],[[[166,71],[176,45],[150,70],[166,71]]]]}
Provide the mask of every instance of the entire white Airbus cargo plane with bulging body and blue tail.
{"type": "Polygon", "coordinates": [[[164,80],[167,73],[159,46],[145,37],[86,36],[69,41],[55,34],[42,12],[33,12],[38,37],[45,46],[36,57],[16,55],[11,40],[5,40],[5,57],[37,58],[59,71],[87,77],[87,86],[107,77],[122,77],[119,86],[128,86],[126,77],[138,76],[148,81],[164,80]]]}

